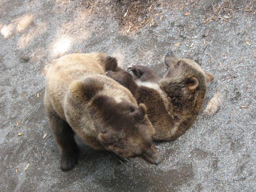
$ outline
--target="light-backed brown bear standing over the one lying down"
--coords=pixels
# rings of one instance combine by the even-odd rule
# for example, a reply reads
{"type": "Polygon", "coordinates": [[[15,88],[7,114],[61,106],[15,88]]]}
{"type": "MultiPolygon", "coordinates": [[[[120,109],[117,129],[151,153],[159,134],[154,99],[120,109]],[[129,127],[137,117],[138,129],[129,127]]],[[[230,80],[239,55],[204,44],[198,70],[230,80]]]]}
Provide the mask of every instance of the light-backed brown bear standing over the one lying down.
{"type": "Polygon", "coordinates": [[[106,66],[116,67],[116,59],[103,53],[70,54],[48,70],[44,106],[61,149],[63,171],[78,160],[74,133],[94,149],[112,151],[119,160],[142,157],[155,165],[161,162],[145,105],[138,105],[127,88],[107,77],[106,66]]]}

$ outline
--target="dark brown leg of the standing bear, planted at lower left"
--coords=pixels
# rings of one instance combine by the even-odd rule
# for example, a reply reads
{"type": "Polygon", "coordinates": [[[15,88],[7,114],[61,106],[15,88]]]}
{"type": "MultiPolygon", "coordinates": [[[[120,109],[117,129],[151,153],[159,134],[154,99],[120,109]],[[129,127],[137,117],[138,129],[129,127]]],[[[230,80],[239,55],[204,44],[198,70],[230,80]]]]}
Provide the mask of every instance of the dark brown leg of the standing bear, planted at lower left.
{"type": "Polygon", "coordinates": [[[72,169],[79,157],[79,148],[74,138],[74,131],[56,112],[48,112],[48,117],[52,134],[61,149],[61,170],[72,169]]]}

